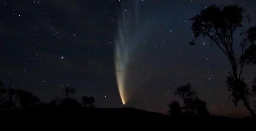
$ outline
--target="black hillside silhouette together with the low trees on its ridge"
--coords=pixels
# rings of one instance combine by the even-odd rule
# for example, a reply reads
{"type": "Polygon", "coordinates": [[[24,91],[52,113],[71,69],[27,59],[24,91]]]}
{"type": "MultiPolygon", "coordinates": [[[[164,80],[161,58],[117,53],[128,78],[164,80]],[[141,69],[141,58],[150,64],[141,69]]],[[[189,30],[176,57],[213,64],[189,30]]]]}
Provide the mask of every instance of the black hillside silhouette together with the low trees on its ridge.
{"type": "MultiPolygon", "coordinates": [[[[75,90],[75,89],[74,89],[75,90]]],[[[95,108],[93,97],[82,97],[82,103],[73,98],[56,97],[49,104],[42,103],[32,93],[16,89],[0,89],[0,122],[7,123],[86,123],[86,124],[124,124],[133,123],[137,126],[152,127],[158,124],[175,125],[195,124],[245,124],[253,119],[233,119],[223,116],[209,116],[206,103],[200,100],[190,84],[179,87],[175,94],[183,99],[184,106],[179,102],[171,102],[171,116],[148,112],[134,108],[104,109],[95,108]],[[12,94],[12,100],[10,99],[12,94]],[[145,122],[145,125],[143,124],[145,122]],[[149,124],[152,123],[152,124],[149,124]],[[148,125],[149,124],[149,125],[148,125]]]]}

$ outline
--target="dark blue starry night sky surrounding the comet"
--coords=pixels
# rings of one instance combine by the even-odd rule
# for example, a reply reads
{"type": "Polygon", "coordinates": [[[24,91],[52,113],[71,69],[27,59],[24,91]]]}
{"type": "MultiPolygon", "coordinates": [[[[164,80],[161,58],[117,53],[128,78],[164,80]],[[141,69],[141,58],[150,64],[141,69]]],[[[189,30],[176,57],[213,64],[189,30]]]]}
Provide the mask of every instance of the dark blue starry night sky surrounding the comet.
{"type": "MultiPolygon", "coordinates": [[[[208,38],[196,45],[190,18],[212,4],[244,7],[255,25],[254,0],[1,0],[0,79],[14,89],[25,89],[50,102],[62,97],[65,87],[72,97],[95,97],[95,106],[135,107],[166,113],[168,103],[180,100],[175,89],[190,82],[207,102],[211,114],[246,116],[248,110],[229,100],[225,78],[231,66],[224,53],[208,38]],[[125,19],[122,20],[122,18],[125,19]],[[115,42],[124,28],[129,47],[131,97],[120,99],[115,74],[115,42]]],[[[255,66],[242,76],[250,86],[255,66]]],[[[129,89],[128,89],[129,90],[129,89]]]]}

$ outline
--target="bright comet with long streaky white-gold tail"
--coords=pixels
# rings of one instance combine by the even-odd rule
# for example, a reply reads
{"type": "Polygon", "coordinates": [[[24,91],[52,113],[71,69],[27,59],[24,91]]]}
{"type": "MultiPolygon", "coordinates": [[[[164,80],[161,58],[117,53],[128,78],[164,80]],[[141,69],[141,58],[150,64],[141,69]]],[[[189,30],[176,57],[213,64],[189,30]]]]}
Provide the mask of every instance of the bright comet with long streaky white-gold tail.
{"type": "Polygon", "coordinates": [[[131,62],[135,61],[137,45],[141,41],[139,1],[127,1],[118,17],[118,32],[115,37],[115,76],[122,103],[126,104],[136,88],[131,80],[131,62]]]}

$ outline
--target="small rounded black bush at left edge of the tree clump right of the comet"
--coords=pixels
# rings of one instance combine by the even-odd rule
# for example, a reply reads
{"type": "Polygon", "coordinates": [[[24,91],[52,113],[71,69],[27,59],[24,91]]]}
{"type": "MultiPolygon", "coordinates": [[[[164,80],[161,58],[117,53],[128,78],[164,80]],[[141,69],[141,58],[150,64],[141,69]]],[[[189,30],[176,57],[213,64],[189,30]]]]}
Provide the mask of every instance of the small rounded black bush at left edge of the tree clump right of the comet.
{"type": "Polygon", "coordinates": [[[173,101],[168,106],[170,108],[168,113],[170,113],[171,116],[181,116],[183,114],[182,108],[178,101],[173,101]]]}

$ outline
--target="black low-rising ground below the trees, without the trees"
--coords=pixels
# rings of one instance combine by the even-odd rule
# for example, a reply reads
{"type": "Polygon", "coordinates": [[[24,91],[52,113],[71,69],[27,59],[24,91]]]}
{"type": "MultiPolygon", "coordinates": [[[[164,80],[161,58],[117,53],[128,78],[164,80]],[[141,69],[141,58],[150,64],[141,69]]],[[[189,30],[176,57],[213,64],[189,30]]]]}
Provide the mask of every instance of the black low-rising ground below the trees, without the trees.
{"type": "MultiPolygon", "coordinates": [[[[225,116],[180,117],[174,118],[161,113],[153,113],[134,108],[82,108],[76,106],[55,106],[43,104],[24,111],[1,112],[0,123],[2,125],[41,124],[41,125],[118,125],[141,127],[167,127],[178,126],[215,126],[215,125],[254,125],[253,118],[229,118],[225,116]]],[[[101,126],[98,126],[102,128],[101,126]]]]}

